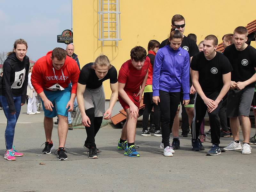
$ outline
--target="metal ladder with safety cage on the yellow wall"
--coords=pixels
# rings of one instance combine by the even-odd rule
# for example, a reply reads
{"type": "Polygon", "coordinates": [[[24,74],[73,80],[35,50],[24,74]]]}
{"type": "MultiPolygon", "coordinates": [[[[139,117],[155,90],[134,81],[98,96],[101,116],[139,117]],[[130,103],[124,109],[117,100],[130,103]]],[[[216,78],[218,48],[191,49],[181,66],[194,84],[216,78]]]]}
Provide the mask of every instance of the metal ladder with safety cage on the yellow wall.
{"type": "Polygon", "coordinates": [[[116,41],[120,38],[120,5],[119,0],[99,0],[99,38],[104,41],[116,41]]]}

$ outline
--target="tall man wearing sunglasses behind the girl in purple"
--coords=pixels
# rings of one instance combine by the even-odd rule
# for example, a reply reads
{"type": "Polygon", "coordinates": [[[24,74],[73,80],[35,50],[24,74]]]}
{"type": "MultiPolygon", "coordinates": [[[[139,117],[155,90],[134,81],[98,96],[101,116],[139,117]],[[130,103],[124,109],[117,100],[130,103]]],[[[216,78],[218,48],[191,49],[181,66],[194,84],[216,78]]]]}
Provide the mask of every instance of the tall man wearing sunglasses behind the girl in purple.
{"type": "MultiPolygon", "coordinates": [[[[172,17],[172,28],[177,28],[183,35],[184,31],[185,31],[185,18],[182,15],[174,15],[172,17]]],[[[164,47],[166,44],[168,43],[168,38],[165,39],[160,47],[164,47]]],[[[186,51],[188,51],[189,57],[190,57],[190,62],[192,57],[199,52],[198,47],[196,45],[196,42],[194,42],[192,39],[189,39],[188,37],[183,35],[183,39],[181,42],[181,48],[185,49],[186,51]]],[[[193,116],[194,116],[194,101],[195,101],[195,92],[196,90],[194,89],[194,87],[192,86],[192,82],[191,79],[189,81],[189,85],[190,85],[190,101],[188,103],[188,105],[186,107],[184,107],[184,105],[182,104],[182,125],[181,125],[181,129],[182,129],[182,133],[181,136],[183,137],[188,137],[188,133],[189,133],[189,124],[191,124],[193,116]]],[[[180,98],[182,101],[183,98],[183,94],[181,91],[180,94],[180,98]]],[[[182,103],[182,102],[181,102],[182,103]]],[[[180,148],[180,140],[179,140],[179,112],[180,112],[180,108],[178,108],[176,116],[174,118],[174,122],[173,122],[173,128],[174,128],[174,132],[173,132],[173,141],[172,141],[172,146],[174,149],[179,149],[180,148]]]]}

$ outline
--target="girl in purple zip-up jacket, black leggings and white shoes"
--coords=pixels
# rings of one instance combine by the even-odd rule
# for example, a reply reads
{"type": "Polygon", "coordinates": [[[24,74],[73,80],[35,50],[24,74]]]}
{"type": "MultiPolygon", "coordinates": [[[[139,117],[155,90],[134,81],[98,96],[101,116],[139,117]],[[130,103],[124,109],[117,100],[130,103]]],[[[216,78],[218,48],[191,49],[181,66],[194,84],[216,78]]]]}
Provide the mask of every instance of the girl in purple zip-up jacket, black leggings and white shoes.
{"type": "Polygon", "coordinates": [[[180,103],[180,89],[183,90],[183,103],[189,103],[189,54],[180,47],[182,34],[172,29],[169,44],[156,53],[153,70],[153,101],[161,110],[162,143],[164,156],[172,156],[170,131],[180,103]]]}

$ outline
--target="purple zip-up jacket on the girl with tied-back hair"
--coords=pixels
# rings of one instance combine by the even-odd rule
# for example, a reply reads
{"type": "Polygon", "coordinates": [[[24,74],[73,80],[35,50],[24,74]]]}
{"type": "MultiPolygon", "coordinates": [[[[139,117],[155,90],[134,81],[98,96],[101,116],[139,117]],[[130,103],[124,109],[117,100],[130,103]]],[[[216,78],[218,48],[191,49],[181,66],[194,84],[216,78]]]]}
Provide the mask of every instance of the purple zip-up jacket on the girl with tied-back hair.
{"type": "Polygon", "coordinates": [[[189,100],[189,54],[179,47],[173,50],[170,45],[159,49],[156,53],[153,70],[153,96],[159,96],[159,90],[180,92],[183,100],[189,100]]]}

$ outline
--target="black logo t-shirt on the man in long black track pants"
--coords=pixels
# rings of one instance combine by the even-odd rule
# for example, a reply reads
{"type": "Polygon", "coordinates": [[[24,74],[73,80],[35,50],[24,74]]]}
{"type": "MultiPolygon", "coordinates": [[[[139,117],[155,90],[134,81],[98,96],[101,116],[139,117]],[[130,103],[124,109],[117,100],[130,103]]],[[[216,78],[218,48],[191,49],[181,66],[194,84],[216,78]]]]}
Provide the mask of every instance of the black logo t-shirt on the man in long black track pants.
{"type": "Polygon", "coordinates": [[[204,52],[194,55],[191,69],[199,72],[198,82],[204,93],[220,92],[223,87],[222,75],[232,71],[232,66],[222,53],[216,52],[212,60],[207,60],[204,52]]]}

